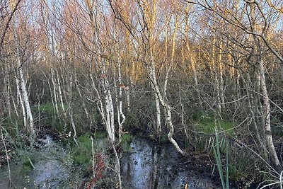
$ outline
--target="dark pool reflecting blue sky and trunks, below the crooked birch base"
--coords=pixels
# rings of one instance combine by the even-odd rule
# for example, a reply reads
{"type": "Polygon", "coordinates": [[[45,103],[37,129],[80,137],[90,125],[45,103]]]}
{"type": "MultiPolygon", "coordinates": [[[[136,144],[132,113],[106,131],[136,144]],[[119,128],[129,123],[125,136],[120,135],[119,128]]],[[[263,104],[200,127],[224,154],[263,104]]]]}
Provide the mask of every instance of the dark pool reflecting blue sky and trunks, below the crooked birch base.
{"type": "Polygon", "coordinates": [[[131,148],[132,152],[121,159],[124,188],[221,188],[180,163],[171,144],[158,147],[135,139],[131,148]]]}

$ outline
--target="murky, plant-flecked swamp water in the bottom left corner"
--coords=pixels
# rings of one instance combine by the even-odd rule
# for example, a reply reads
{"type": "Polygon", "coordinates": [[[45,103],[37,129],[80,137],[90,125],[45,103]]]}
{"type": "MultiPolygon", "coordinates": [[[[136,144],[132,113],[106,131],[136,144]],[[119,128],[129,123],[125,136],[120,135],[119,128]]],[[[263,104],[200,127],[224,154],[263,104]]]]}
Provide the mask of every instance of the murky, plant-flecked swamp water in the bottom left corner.
{"type": "Polygon", "coordinates": [[[0,168],[0,189],[62,188],[71,166],[65,161],[67,154],[50,136],[46,136],[42,142],[44,146],[33,154],[37,158],[36,162],[32,162],[34,168],[23,170],[21,164],[10,165],[12,184],[9,182],[7,166],[0,168]]]}

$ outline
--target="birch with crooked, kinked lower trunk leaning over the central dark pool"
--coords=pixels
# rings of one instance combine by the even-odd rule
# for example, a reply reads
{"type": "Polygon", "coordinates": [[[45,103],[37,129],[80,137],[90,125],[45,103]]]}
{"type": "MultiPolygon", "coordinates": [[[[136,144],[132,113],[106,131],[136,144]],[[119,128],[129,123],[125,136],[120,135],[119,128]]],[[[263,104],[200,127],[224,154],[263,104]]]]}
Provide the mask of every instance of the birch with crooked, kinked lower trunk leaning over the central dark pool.
{"type": "MultiPolygon", "coordinates": [[[[166,123],[168,125],[168,139],[173,144],[175,149],[180,152],[180,154],[185,154],[185,152],[180,149],[178,143],[173,139],[174,134],[174,125],[172,122],[172,108],[168,100],[166,99],[165,94],[162,93],[160,84],[158,84],[157,77],[156,77],[156,60],[155,60],[155,53],[156,53],[156,40],[158,39],[158,35],[156,35],[156,16],[157,15],[157,7],[158,1],[136,1],[135,4],[137,4],[137,23],[139,23],[139,28],[144,28],[141,30],[140,33],[136,33],[138,30],[137,28],[134,28],[134,25],[130,25],[130,23],[127,23],[125,21],[125,18],[123,17],[123,14],[121,13],[122,10],[120,6],[117,4],[117,1],[109,1],[110,5],[112,6],[112,11],[115,14],[115,18],[122,21],[122,23],[125,25],[125,27],[131,32],[133,37],[139,42],[139,45],[141,45],[141,50],[143,53],[142,60],[145,63],[146,71],[149,76],[150,82],[151,82],[151,88],[154,91],[155,99],[158,99],[158,103],[156,103],[156,115],[157,120],[158,117],[161,116],[158,111],[160,107],[158,107],[158,104],[160,103],[162,107],[164,108],[166,112],[166,123]],[[139,37],[140,36],[140,40],[139,37]]],[[[178,19],[175,20],[176,23],[178,23],[178,19]]],[[[174,57],[175,48],[173,47],[172,55],[174,57]]],[[[172,59],[171,59],[172,63],[172,59]]],[[[169,67],[167,69],[167,73],[171,71],[172,64],[169,64],[169,67]]],[[[168,74],[166,74],[168,75],[168,74]]],[[[167,82],[167,81],[166,81],[167,82]]],[[[167,84],[165,85],[165,87],[167,84]]],[[[165,90],[166,91],[166,90],[165,90]]],[[[158,120],[159,121],[159,120],[158,120]]],[[[157,123],[159,124],[159,123],[157,123]]]]}

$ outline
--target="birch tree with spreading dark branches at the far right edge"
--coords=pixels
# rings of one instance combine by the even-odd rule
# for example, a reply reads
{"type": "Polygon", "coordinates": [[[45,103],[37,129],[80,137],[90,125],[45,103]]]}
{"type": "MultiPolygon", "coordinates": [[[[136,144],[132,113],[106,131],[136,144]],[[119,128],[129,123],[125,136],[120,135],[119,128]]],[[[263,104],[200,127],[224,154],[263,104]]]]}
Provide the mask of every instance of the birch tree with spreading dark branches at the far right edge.
{"type": "MultiPolygon", "coordinates": [[[[219,1],[187,1],[189,3],[195,4],[197,6],[202,6],[210,13],[214,14],[219,21],[224,22],[224,24],[232,25],[243,32],[246,38],[247,44],[243,45],[240,41],[235,41],[234,38],[230,38],[231,42],[236,42],[237,45],[243,47],[244,50],[248,50],[248,55],[246,54],[247,63],[253,61],[258,69],[258,87],[260,88],[260,96],[256,95],[257,98],[253,98],[255,104],[260,105],[260,100],[263,101],[262,111],[253,110],[260,113],[262,120],[260,121],[265,132],[262,132],[263,145],[266,146],[270,153],[270,160],[275,168],[280,169],[281,165],[278,160],[277,152],[275,151],[275,146],[272,140],[272,127],[270,123],[270,98],[268,95],[268,89],[265,79],[265,63],[262,56],[264,55],[264,49],[269,50],[272,54],[277,57],[279,62],[282,62],[282,56],[279,55],[277,48],[272,45],[270,39],[268,38],[270,30],[270,23],[272,21],[277,21],[279,14],[274,14],[272,17],[272,12],[274,9],[265,5],[264,1],[233,1],[231,4],[236,4],[237,6],[231,6],[229,9],[227,4],[221,3],[219,1]],[[242,6],[246,12],[240,14],[237,9],[238,6],[242,6]],[[266,11],[263,11],[263,7],[270,10],[270,14],[267,17],[266,11]],[[247,45],[247,46],[246,46],[247,45]]],[[[214,17],[214,18],[216,18],[214,17]]],[[[256,107],[256,106],[255,106],[256,107]]],[[[256,127],[256,125],[255,125],[256,127]]],[[[260,136],[261,137],[261,136],[260,136]]]]}

